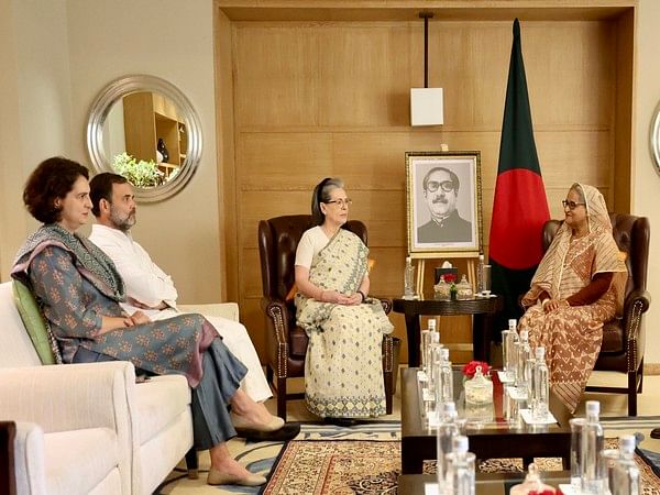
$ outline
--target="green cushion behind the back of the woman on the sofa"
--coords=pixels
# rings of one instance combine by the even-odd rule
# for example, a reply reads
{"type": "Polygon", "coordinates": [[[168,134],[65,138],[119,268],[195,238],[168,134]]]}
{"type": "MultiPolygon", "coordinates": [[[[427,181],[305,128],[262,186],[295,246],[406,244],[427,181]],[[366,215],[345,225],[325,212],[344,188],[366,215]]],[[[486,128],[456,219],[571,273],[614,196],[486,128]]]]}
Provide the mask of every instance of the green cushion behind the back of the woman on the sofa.
{"type": "Polygon", "coordinates": [[[12,289],[19,315],[21,315],[25,330],[32,339],[42,364],[62,363],[57,341],[51,333],[32,292],[25,284],[15,279],[12,289]]]}

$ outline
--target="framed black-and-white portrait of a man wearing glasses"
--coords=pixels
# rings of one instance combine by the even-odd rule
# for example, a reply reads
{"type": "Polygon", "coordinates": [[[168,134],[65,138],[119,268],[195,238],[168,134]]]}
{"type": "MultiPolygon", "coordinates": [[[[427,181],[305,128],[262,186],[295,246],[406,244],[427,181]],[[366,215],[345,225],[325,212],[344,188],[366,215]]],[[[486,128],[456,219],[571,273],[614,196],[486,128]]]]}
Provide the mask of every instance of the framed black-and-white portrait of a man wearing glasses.
{"type": "Polygon", "coordinates": [[[482,252],[481,153],[406,152],[408,252],[477,257],[482,252]]]}

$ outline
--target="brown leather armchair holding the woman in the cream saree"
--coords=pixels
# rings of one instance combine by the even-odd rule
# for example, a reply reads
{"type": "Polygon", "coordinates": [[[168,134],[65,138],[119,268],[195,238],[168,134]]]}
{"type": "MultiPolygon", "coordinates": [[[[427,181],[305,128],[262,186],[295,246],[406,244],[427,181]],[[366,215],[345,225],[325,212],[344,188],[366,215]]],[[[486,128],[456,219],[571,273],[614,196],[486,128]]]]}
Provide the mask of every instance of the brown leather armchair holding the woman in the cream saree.
{"type": "MultiPolygon", "coordinates": [[[[304,394],[287,394],[286,380],[305,376],[305,354],[307,334],[296,324],[296,307],[286,297],[295,280],[294,262],[296,249],[302,233],[310,229],[310,215],[275,217],[258,222],[258,254],[262,268],[263,294],[261,306],[266,320],[266,377],[277,393],[277,416],[286,419],[286,400],[302,398],[304,394]],[[274,383],[276,378],[276,383],[274,383]]],[[[366,227],[358,220],[350,220],[345,228],[358,234],[366,244],[366,227]]],[[[382,299],[383,309],[388,314],[392,301],[382,299]]],[[[393,338],[383,338],[383,375],[387,414],[392,414],[392,395],[395,374],[393,373],[393,338]]]]}

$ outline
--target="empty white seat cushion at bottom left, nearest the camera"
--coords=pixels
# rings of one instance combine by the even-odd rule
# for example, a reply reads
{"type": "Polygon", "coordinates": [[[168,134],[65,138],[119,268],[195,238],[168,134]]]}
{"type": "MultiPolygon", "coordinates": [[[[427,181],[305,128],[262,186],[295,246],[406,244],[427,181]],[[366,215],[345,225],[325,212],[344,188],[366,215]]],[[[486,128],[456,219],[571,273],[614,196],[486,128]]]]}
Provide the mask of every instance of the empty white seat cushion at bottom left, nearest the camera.
{"type": "Polygon", "coordinates": [[[50,494],[90,493],[119,470],[117,436],[109,428],[46,433],[44,444],[50,494]]]}

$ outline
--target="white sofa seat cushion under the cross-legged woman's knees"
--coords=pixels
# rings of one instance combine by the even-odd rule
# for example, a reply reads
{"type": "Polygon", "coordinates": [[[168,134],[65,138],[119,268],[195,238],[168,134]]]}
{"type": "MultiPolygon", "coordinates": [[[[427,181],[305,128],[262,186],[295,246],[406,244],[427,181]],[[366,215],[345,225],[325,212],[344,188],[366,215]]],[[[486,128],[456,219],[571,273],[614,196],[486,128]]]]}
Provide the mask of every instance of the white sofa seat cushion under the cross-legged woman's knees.
{"type": "Polygon", "coordinates": [[[164,430],[190,405],[188,381],[183,375],[153,376],[135,388],[140,444],[164,430]]]}

